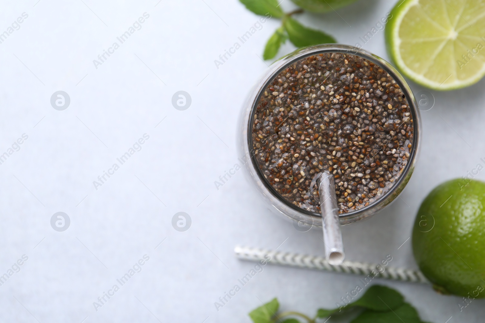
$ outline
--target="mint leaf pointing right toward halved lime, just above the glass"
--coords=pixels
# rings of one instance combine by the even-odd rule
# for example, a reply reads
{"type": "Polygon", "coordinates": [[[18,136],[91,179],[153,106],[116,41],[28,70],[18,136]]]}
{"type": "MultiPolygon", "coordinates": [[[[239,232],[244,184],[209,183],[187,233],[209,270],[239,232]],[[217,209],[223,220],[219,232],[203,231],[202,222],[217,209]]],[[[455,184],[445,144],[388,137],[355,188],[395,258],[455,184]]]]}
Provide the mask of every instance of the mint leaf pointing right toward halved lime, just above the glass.
{"type": "Polygon", "coordinates": [[[323,31],[307,28],[291,17],[286,17],[283,26],[288,32],[291,43],[297,47],[336,43],[337,41],[323,31]]]}

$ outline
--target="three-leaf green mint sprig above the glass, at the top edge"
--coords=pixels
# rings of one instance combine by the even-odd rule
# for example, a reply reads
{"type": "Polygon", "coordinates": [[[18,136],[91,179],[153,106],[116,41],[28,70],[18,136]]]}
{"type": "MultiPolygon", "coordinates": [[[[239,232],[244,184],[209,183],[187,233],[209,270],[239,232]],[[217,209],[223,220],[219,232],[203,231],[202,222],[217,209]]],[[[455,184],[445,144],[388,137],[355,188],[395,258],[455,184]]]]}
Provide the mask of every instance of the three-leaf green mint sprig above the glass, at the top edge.
{"type": "Polygon", "coordinates": [[[264,47],[263,58],[270,60],[276,56],[278,50],[287,39],[296,47],[305,47],[311,45],[336,43],[337,41],[332,36],[303,26],[291,16],[302,13],[302,9],[284,13],[277,0],[240,0],[244,6],[257,15],[268,16],[281,19],[281,27],[279,27],[273,35],[268,39],[264,47]]]}

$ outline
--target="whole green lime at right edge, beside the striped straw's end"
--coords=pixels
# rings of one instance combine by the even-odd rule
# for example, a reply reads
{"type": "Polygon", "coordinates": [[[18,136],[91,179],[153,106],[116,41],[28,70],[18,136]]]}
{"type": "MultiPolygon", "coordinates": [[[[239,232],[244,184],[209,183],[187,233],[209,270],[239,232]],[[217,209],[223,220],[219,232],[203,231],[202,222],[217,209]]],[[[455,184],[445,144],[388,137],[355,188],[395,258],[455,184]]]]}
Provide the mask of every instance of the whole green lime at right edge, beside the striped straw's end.
{"type": "Polygon", "coordinates": [[[485,297],[485,183],[455,179],[421,203],[413,252],[438,292],[485,297]]]}

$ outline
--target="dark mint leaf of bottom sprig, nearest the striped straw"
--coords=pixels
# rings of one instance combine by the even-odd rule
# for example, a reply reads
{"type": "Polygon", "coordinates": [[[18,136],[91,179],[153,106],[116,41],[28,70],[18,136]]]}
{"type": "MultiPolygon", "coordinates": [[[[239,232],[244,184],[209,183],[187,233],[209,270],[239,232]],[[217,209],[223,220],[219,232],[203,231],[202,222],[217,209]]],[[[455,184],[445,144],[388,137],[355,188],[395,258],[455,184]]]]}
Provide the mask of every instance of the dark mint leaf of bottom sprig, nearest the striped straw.
{"type": "MultiPolygon", "coordinates": [[[[374,311],[390,311],[395,308],[399,308],[404,304],[404,297],[396,290],[392,288],[373,285],[353,303],[349,303],[345,309],[350,309],[356,306],[367,308],[374,311]]],[[[334,313],[340,312],[339,308],[336,309],[323,309],[320,308],[317,312],[317,316],[320,318],[328,317],[334,313]]],[[[407,323],[407,322],[406,322],[407,323]]]]}

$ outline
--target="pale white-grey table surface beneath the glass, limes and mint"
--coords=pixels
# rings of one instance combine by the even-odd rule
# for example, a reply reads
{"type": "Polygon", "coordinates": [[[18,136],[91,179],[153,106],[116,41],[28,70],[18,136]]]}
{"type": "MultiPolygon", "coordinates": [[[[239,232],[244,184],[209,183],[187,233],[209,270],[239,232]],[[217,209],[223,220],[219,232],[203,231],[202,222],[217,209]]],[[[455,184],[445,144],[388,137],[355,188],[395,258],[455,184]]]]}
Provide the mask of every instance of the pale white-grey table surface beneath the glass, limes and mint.
{"type": "MultiPolygon", "coordinates": [[[[276,296],[281,308],[313,315],[355,289],[361,277],[267,265],[223,308],[214,307],[254,266],[235,258],[238,244],[323,255],[321,232],[295,230],[242,170],[214,185],[238,162],[239,111],[267,68],[259,56],[278,20],[265,22],[217,68],[214,60],[259,19],[236,0],[36,1],[4,1],[0,12],[0,32],[28,15],[0,44],[0,154],[28,135],[0,165],[0,275],[28,256],[0,286],[0,322],[250,322],[247,313],[260,300],[276,296]],[[97,55],[145,12],[142,28],[96,69],[97,55]],[[50,105],[59,90],[71,99],[63,111],[50,105]],[[184,111],[171,104],[180,90],[192,97],[184,111]],[[96,190],[97,176],[145,133],[143,149],[96,190]],[[50,226],[60,211],[71,220],[64,232],[50,226]],[[188,231],[172,227],[177,212],[191,216],[188,231]],[[97,297],[144,255],[142,271],[96,310],[97,297]]],[[[362,0],[339,15],[297,18],[355,45],[393,2],[362,0]]],[[[281,5],[294,9],[289,0],[281,5]]],[[[383,31],[363,48],[388,58],[383,31]]],[[[288,43],[280,55],[293,49],[288,43]]],[[[484,85],[431,91],[436,104],[421,112],[415,172],[400,199],[342,229],[347,260],[390,254],[390,265],[417,268],[411,240],[404,241],[420,201],[484,164],[484,85]]],[[[424,321],[483,322],[483,300],[460,312],[461,297],[376,282],[402,292],[424,321]]]]}

